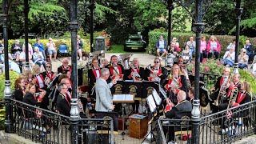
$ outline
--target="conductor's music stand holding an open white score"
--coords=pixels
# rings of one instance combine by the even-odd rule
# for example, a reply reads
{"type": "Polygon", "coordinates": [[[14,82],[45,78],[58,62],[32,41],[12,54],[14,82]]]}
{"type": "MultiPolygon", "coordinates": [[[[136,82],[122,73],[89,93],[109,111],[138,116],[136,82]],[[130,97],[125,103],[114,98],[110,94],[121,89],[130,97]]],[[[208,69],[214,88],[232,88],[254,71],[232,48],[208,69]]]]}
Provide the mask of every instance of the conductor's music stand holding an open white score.
{"type": "Polygon", "coordinates": [[[125,104],[126,103],[133,103],[134,102],[134,95],[132,94],[114,94],[113,95],[113,102],[115,103],[122,103],[122,140],[124,140],[125,136],[125,118],[124,118],[124,111],[125,111],[125,104]]]}

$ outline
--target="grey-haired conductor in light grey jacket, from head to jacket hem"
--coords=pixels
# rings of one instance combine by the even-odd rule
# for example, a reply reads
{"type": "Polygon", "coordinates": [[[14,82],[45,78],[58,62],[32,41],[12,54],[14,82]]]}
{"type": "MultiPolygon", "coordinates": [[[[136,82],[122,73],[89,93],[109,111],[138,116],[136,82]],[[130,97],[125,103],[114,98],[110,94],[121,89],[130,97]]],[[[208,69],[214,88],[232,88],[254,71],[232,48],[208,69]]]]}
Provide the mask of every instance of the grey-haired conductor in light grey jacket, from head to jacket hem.
{"type": "Polygon", "coordinates": [[[109,112],[114,110],[114,105],[112,101],[112,94],[110,88],[117,83],[114,79],[113,82],[109,84],[106,83],[106,80],[110,77],[110,70],[103,68],[101,70],[101,77],[97,79],[95,84],[96,90],[96,104],[95,110],[97,112],[109,112]]]}

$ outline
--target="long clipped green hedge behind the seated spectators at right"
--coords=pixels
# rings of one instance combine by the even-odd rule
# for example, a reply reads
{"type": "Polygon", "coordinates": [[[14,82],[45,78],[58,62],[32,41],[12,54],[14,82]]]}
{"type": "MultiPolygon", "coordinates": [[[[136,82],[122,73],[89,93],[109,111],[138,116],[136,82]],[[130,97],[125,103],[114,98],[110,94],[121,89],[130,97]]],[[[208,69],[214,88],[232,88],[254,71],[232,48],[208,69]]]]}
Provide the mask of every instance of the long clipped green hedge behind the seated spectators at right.
{"type": "MultiPolygon", "coordinates": [[[[184,46],[186,44],[187,41],[189,41],[190,37],[194,37],[195,38],[195,34],[194,33],[176,33],[176,32],[172,32],[171,33],[171,38],[178,38],[178,42],[180,47],[182,48],[182,50],[184,49],[184,46]]],[[[157,29],[157,30],[152,30],[149,33],[149,46],[147,47],[147,53],[149,54],[155,54],[155,43],[158,41],[159,36],[162,35],[166,41],[168,38],[168,33],[166,30],[164,29],[157,29]]],[[[209,34],[202,34],[202,36],[206,37],[206,42],[209,41],[210,39],[210,35],[209,34]]],[[[231,36],[231,35],[215,35],[216,38],[218,39],[218,42],[220,42],[221,46],[222,46],[222,52],[221,54],[223,55],[226,52],[226,47],[230,44],[230,42],[233,42],[233,39],[235,38],[235,36],[231,36]]],[[[246,42],[246,37],[245,36],[240,36],[239,38],[239,49],[242,49],[242,47],[244,46],[245,42],[246,42]]],[[[248,38],[250,39],[250,42],[253,44],[253,47],[256,47],[256,38],[248,38]]]]}

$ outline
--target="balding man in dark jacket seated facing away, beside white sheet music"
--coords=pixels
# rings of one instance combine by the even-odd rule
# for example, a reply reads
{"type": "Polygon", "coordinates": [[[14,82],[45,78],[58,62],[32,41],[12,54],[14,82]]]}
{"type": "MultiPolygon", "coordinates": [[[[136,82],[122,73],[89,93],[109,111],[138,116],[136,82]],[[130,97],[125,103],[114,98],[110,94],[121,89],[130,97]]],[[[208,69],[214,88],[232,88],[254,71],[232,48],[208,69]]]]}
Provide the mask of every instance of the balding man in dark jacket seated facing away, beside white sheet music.
{"type": "MultiPolygon", "coordinates": [[[[180,90],[177,94],[178,104],[174,106],[174,103],[170,101],[170,99],[166,100],[167,105],[171,106],[171,110],[165,111],[166,118],[178,118],[180,117],[178,113],[181,112],[191,112],[192,111],[192,104],[191,102],[186,100],[186,92],[180,90]]],[[[165,128],[167,131],[169,129],[169,142],[174,141],[174,132],[175,127],[165,128]]]]}

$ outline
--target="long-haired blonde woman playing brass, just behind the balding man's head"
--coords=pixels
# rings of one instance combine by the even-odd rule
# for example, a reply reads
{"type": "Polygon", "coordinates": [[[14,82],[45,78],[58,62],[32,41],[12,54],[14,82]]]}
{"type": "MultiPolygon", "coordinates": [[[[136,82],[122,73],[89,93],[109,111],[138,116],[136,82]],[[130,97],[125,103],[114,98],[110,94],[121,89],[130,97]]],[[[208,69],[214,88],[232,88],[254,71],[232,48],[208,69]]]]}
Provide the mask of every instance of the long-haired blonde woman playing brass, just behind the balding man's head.
{"type": "Polygon", "coordinates": [[[178,94],[179,90],[183,90],[186,93],[186,96],[188,98],[188,86],[186,82],[186,76],[182,74],[180,71],[180,67],[177,64],[174,64],[171,68],[171,74],[170,78],[166,81],[165,88],[166,90],[170,91],[170,100],[174,102],[174,104],[177,104],[177,98],[176,95],[178,94]]]}

